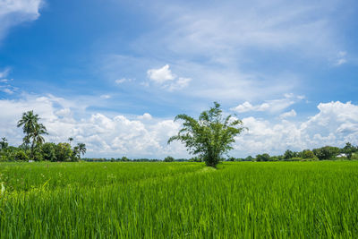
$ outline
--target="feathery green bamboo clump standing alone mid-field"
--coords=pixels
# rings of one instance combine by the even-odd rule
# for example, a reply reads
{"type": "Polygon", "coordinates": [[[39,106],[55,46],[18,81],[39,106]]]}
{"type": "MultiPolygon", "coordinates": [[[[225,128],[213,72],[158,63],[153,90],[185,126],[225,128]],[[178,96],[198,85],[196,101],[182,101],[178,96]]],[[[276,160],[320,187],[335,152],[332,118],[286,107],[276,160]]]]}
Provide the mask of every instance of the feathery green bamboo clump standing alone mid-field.
{"type": "Polygon", "coordinates": [[[234,136],[243,132],[243,122],[232,115],[224,117],[217,102],[203,111],[196,120],[189,115],[176,115],[175,121],[183,120],[183,128],[167,143],[181,141],[191,154],[200,155],[207,166],[217,166],[220,158],[233,149],[234,136]]]}

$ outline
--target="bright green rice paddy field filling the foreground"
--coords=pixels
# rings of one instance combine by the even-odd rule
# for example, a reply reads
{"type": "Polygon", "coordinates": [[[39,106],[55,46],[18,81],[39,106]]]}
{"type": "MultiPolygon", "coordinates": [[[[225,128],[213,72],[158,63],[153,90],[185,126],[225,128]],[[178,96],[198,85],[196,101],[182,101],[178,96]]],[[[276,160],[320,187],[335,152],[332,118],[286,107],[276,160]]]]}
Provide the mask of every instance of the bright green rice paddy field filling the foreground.
{"type": "Polygon", "coordinates": [[[2,163],[1,238],[357,238],[358,161],[2,163]]]}

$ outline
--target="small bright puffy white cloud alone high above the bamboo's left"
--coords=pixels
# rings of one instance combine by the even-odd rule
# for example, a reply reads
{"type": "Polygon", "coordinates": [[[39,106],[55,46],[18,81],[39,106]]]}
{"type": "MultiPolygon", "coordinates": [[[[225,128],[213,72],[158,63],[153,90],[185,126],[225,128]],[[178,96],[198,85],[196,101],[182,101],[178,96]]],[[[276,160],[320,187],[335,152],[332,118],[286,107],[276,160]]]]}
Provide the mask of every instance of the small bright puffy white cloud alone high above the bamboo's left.
{"type": "Polygon", "coordinates": [[[177,77],[169,69],[169,64],[166,64],[159,69],[150,69],[148,70],[147,75],[150,81],[161,85],[162,88],[169,91],[181,90],[187,87],[189,82],[192,81],[191,78],[177,77]]]}

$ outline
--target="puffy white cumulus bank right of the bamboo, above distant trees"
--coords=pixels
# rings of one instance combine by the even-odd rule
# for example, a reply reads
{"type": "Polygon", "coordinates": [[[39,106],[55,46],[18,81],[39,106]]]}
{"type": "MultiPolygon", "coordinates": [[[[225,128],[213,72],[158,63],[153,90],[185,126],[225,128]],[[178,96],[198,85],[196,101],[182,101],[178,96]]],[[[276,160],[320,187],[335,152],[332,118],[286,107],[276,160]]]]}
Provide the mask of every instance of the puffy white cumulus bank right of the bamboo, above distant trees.
{"type": "Polygon", "coordinates": [[[254,117],[243,118],[249,131],[237,137],[236,153],[281,154],[285,149],[313,149],[325,145],[343,147],[347,141],[358,144],[357,105],[337,101],[320,103],[317,108],[319,113],[303,122],[282,119],[274,123],[254,117]]]}

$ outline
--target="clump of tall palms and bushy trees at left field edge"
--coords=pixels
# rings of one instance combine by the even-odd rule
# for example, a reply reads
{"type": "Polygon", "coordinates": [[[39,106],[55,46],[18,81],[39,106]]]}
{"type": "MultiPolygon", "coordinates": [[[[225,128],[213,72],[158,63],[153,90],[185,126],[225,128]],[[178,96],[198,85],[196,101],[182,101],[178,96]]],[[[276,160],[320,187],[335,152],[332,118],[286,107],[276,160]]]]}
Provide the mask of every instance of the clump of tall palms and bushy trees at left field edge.
{"type": "Polygon", "coordinates": [[[24,137],[19,147],[9,146],[6,138],[0,141],[0,161],[79,161],[81,155],[86,152],[84,143],[77,143],[72,147],[73,138],[69,142],[45,142],[44,135],[47,135],[47,129],[40,124],[38,115],[33,111],[22,114],[17,127],[22,127],[24,137]]]}

